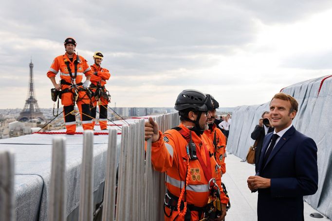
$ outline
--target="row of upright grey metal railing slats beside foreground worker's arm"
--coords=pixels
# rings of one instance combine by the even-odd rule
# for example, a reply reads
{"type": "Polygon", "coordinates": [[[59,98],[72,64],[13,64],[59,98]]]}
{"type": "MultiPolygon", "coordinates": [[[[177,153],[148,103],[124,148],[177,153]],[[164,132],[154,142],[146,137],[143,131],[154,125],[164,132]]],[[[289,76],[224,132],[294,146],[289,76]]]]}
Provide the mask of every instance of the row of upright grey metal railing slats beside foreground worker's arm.
{"type": "MultiPolygon", "coordinates": [[[[163,132],[179,124],[177,113],[158,116],[155,120],[163,132]]],[[[92,131],[84,132],[83,146],[79,221],[92,221],[92,131]]],[[[153,170],[150,140],[147,141],[146,148],[145,153],[144,119],[122,127],[116,192],[116,129],[109,130],[102,221],[164,220],[165,174],[153,170]]],[[[66,220],[65,171],[65,138],[58,137],[53,141],[49,221],[66,220]]]]}

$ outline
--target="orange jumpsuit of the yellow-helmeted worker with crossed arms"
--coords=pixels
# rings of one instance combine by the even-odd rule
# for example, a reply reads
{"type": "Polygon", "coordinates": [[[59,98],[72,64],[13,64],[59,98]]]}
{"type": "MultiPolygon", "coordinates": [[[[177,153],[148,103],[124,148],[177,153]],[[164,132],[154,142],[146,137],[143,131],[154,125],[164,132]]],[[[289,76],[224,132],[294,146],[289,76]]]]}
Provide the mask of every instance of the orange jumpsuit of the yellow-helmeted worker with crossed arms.
{"type": "MultiPolygon", "coordinates": [[[[93,93],[96,92],[97,87],[100,87],[103,92],[106,92],[106,88],[104,85],[106,85],[106,81],[110,79],[111,74],[110,71],[106,68],[98,67],[96,64],[93,64],[90,66],[92,69],[92,73],[97,72],[97,74],[92,74],[91,76],[91,85],[90,89],[93,93]]],[[[97,108],[97,100],[93,96],[91,98],[92,102],[92,108],[91,108],[91,116],[92,116],[92,128],[94,127],[94,124],[96,122],[96,108],[97,108]]],[[[99,124],[101,130],[107,129],[107,105],[109,101],[104,97],[100,96],[98,105],[99,105],[99,124]]]]}

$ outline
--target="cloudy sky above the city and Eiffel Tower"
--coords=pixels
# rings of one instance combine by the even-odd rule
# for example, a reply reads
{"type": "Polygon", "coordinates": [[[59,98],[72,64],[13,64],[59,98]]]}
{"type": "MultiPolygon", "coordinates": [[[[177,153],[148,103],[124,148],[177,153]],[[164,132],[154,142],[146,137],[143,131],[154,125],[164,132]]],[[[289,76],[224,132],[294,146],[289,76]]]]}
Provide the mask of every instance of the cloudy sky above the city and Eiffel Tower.
{"type": "Polygon", "coordinates": [[[331,0],[2,1],[0,109],[23,108],[31,57],[39,107],[53,107],[46,73],[68,36],[90,65],[103,52],[111,106],[173,106],[187,88],[264,103],[332,74],[331,21],[331,0]]]}

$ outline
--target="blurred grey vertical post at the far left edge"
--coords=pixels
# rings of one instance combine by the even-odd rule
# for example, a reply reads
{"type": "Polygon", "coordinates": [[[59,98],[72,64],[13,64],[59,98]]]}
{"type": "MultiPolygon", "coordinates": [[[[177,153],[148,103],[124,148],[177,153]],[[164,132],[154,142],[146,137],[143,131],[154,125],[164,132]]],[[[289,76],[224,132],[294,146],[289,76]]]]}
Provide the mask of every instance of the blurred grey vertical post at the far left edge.
{"type": "Polygon", "coordinates": [[[14,154],[0,152],[0,220],[15,220],[14,154]]]}

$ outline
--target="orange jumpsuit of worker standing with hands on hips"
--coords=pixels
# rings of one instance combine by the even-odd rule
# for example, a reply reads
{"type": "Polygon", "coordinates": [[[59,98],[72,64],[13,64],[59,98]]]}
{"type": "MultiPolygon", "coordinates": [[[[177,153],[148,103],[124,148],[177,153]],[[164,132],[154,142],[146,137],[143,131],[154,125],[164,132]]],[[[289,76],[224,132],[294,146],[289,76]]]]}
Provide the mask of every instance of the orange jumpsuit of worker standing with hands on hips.
{"type": "Polygon", "coordinates": [[[77,84],[82,83],[83,74],[85,76],[91,76],[92,71],[89,67],[87,61],[82,57],[79,56],[79,61],[77,61],[77,55],[74,54],[73,61],[71,61],[67,54],[57,56],[52,65],[50,70],[47,72],[47,77],[55,77],[55,75],[60,71],[60,78],[61,81],[65,81],[61,84],[61,91],[64,91],[66,93],[61,94],[61,103],[63,105],[64,110],[64,119],[65,119],[65,125],[67,128],[68,134],[74,134],[76,131],[76,120],[75,115],[69,114],[74,110],[74,93],[75,91],[78,93],[77,98],[77,107],[79,112],[81,113],[81,120],[82,120],[82,126],[84,130],[92,130],[92,119],[91,119],[91,110],[90,110],[90,98],[86,94],[84,90],[82,90],[82,86],[77,86],[77,84]],[[75,62],[77,62],[77,73],[76,78],[74,78],[75,75],[75,62]],[[73,78],[70,76],[67,64],[69,64],[69,67],[72,72],[73,78]],[[67,85],[67,84],[73,84],[77,86],[77,90],[74,88],[71,89],[73,85],[67,85]],[[83,114],[82,114],[83,113],[83,114]]]}

